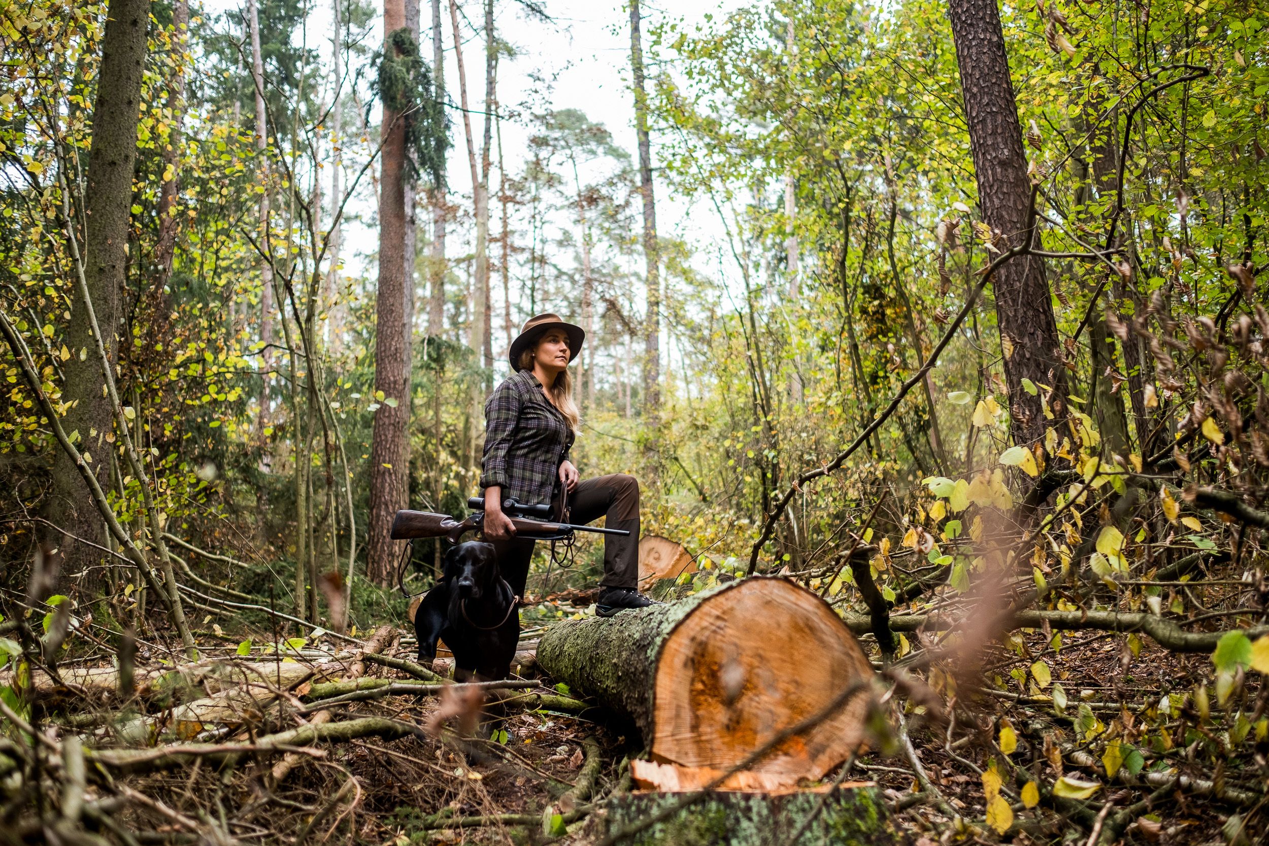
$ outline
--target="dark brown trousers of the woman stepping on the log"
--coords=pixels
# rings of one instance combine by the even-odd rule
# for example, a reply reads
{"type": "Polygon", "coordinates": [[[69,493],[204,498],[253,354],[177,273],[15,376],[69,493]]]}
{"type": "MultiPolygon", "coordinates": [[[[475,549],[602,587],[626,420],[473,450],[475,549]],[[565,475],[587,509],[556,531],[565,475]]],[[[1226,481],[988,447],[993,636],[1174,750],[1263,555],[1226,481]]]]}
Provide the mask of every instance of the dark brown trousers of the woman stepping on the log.
{"type": "MultiPolygon", "coordinates": [[[[604,577],[600,587],[638,587],[638,479],[624,473],[582,479],[569,495],[567,523],[586,524],[608,517],[609,529],[627,529],[628,538],[604,535],[604,577]]],[[[533,542],[513,538],[495,540],[497,566],[516,596],[524,596],[524,583],[533,561],[533,542]]]]}

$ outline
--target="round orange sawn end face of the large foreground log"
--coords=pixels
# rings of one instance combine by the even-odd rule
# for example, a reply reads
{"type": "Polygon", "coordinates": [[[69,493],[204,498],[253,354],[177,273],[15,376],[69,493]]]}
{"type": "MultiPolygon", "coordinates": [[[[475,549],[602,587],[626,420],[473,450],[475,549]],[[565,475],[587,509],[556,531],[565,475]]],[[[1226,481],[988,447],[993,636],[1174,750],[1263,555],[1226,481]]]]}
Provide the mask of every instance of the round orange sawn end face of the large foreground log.
{"type": "MultiPolygon", "coordinates": [[[[819,596],[746,578],[685,616],[661,647],[652,753],[727,770],[779,731],[824,710],[872,675],[854,635],[819,596]]],[[[867,698],[775,747],[753,769],[819,779],[863,743],[867,698]]]]}

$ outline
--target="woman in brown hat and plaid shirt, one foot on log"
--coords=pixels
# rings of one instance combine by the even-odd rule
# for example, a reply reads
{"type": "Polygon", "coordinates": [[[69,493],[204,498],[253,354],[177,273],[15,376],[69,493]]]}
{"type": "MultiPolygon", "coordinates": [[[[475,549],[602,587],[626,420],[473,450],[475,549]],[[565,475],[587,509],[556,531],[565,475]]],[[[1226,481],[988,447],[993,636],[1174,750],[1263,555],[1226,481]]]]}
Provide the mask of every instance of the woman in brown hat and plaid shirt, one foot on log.
{"type": "Polygon", "coordinates": [[[539,505],[556,501],[563,490],[572,523],[607,516],[609,529],[628,529],[627,538],[604,537],[604,577],[595,610],[612,616],[655,602],[638,592],[638,482],[621,473],[579,481],[569,460],[579,421],[569,363],[585,337],[581,327],[558,315],[538,315],[511,341],[513,373],[485,403],[483,530],[497,550],[503,578],[516,596],[524,596],[533,540],[515,538],[504,501],[539,505]]]}

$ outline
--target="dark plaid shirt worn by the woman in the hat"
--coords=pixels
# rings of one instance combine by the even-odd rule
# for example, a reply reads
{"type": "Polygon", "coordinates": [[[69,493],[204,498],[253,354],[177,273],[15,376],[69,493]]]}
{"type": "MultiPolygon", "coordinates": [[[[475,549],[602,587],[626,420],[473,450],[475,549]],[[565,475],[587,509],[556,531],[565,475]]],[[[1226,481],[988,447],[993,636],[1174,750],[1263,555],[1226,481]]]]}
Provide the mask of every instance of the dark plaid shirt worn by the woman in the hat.
{"type": "Polygon", "coordinates": [[[511,374],[485,402],[481,488],[497,485],[504,501],[549,502],[572,440],[572,429],[533,372],[511,374]]]}

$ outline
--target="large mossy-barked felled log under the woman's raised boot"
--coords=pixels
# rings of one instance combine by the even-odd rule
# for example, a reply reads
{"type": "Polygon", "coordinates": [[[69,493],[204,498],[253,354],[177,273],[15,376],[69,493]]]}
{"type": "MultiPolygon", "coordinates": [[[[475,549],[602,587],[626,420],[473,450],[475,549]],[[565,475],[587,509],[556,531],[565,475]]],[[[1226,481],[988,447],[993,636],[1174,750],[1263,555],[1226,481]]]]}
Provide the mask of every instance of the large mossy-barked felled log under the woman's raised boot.
{"type": "MultiPolygon", "coordinates": [[[[754,577],[678,602],[551,627],[538,665],[572,695],[628,717],[659,761],[730,770],[827,708],[872,667],[832,609],[783,578],[754,577]]],[[[819,779],[864,739],[867,701],[775,746],[764,784],[819,779]]]]}

